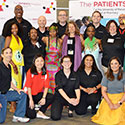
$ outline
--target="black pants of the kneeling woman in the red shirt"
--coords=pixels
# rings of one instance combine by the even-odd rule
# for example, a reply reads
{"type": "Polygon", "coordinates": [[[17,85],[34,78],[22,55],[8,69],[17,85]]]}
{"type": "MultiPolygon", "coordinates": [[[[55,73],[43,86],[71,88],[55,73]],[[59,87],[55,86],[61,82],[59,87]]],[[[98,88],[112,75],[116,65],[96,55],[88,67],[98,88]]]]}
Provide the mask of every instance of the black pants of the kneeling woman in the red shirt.
{"type": "MultiPolygon", "coordinates": [[[[43,92],[41,93],[38,93],[37,95],[33,95],[32,98],[33,98],[33,101],[34,101],[34,104],[38,104],[38,102],[41,100],[43,96],[43,92]]],[[[47,96],[46,96],[46,103],[45,105],[42,105],[40,107],[40,111],[45,113],[47,107],[52,104],[52,101],[53,101],[53,95],[50,94],[50,93],[47,93],[47,96]]],[[[34,119],[36,118],[36,111],[35,111],[35,108],[34,109],[31,109],[29,107],[29,97],[27,98],[27,107],[26,107],[26,116],[30,119],[34,119]]]]}

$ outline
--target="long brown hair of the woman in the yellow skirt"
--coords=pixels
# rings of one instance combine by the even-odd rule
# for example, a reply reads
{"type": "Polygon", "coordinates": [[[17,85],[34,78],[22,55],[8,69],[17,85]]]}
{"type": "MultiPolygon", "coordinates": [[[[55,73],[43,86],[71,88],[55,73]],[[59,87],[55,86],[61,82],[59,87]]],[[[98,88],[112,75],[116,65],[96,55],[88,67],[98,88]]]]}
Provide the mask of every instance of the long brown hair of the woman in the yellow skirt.
{"type": "MultiPolygon", "coordinates": [[[[112,71],[112,69],[111,69],[111,61],[112,61],[112,60],[117,60],[117,61],[119,62],[119,64],[122,65],[122,64],[121,64],[121,61],[120,61],[120,59],[119,59],[118,57],[114,56],[114,57],[112,57],[112,58],[110,59],[109,64],[108,64],[108,70],[107,70],[107,72],[106,72],[106,77],[107,77],[107,79],[110,80],[110,81],[113,81],[114,78],[115,78],[114,75],[113,75],[113,71],[112,71]]],[[[118,72],[117,79],[120,81],[122,78],[123,78],[123,70],[122,70],[122,67],[120,66],[120,67],[119,67],[119,72],[118,72]]]]}

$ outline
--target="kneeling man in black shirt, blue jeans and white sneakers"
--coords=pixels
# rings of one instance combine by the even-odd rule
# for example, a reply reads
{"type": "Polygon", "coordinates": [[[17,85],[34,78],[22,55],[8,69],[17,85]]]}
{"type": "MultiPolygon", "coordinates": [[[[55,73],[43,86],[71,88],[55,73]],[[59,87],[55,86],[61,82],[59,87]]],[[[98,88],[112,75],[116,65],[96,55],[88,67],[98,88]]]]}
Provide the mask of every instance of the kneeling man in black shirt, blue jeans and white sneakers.
{"type": "Polygon", "coordinates": [[[12,59],[12,49],[7,47],[2,50],[2,61],[0,62],[0,123],[5,122],[7,101],[17,101],[17,108],[13,116],[13,122],[28,122],[29,118],[24,118],[26,112],[27,96],[23,90],[14,86],[11,80],[11,67],[9,62],[12,59]],[[10,89],[14,91],[8,91],[10,89]]]}

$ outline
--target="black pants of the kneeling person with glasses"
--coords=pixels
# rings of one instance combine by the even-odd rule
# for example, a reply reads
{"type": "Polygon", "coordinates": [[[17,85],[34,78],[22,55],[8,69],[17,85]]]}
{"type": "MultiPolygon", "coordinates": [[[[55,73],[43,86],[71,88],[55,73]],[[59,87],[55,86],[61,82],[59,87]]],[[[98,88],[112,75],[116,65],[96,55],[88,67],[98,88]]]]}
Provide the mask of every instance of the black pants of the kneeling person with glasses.
{"type": "Polygon", "coordinates": [[[62,97],[54,97],[54,101],[51,106],[51,119],[52,120],[60,120],[62,116],[63,106],[68,106],[69,110],[75,110],[75,106],[69,104],[62,97]]]}

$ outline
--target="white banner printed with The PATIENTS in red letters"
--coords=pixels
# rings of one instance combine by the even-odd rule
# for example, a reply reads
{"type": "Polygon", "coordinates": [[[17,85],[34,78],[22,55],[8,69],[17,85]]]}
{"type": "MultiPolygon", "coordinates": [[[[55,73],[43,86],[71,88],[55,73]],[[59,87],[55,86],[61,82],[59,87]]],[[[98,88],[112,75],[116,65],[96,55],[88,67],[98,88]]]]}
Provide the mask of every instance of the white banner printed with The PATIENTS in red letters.
{"type": "Polygon", "coordinates": [[[91,16],[98,10],[103,16],[102,23],[109,19],[117,18],[120,14],[125,13],[124,0],[71,0],[69,1],[69,17],[70,19],[81,19],[84,16],[91,16]]]}

